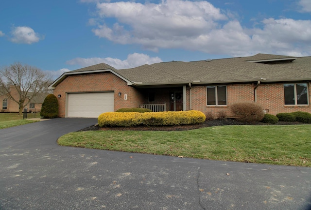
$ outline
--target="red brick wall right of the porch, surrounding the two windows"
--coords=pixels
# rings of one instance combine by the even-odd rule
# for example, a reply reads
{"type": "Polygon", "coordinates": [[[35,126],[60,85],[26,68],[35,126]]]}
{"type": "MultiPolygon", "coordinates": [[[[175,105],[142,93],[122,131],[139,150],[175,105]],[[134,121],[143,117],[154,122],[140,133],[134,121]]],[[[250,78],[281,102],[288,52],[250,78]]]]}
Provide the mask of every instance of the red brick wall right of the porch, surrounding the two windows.
{"type": "MultiPolygon", "coordinates": [[[[219,111],[225,111],[228,117],[232,117],[229,106],[235,102],[255,101],[255,84],[230,84],[227,85],[227,105],[207,106],[206,85],[192,86],[191,88],[191,109],[200,110],[207,114],[213,113],[217,117],[219,111]]],[[[276,115],[281,112],[304,111],[311,113],[311,83],[309,83],[309,105],[284,105],[283,83],[260,84],[256,90],[257,103],[267,109],[269,114],[276,115]]],[[[188,93],[188,91],[187,91],[188,93]]],[[[187,110],[189,100],[187,97],[187,110]]],[[[190,108],[190,107],[189,107],[190,108]]]]}

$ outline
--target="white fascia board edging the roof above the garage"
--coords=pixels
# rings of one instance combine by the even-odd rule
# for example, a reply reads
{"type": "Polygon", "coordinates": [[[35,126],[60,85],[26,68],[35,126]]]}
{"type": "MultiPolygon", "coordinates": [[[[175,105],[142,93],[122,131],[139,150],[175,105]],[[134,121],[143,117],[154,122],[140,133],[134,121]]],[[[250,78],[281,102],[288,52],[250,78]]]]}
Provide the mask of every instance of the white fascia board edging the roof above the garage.
{"type": "Polygon", "coordinates": [[[58,85],[61,81],[63,81],[67,76],[69,75],[86,75],[86,74],[94,74],[94,73],[102,73],[102,72],[110,72],[116,76],[118,76],[119,78],[121,78],[122,80],[124,80],[125,82],[127,82],[127,85],[133,85],[133,83],[131,81],[129,81],[128,79],[126,79],[125,77],[119,75],[118,73],[114,72],[111,69],[103,69],[103,70],[92,70],[92,71],[84,71],[84,72],[65,72],[64,74],[62,74],[60,77],[58,77],[49,87],[48,89],[50,90],[54,90],[56,85],[58,85]]]}

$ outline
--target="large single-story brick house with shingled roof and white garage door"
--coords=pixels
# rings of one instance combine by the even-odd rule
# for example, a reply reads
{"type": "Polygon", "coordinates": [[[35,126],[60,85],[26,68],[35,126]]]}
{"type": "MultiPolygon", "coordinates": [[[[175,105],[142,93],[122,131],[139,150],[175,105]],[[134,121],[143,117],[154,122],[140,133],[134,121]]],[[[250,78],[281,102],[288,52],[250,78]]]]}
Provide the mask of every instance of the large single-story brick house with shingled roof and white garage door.
{"type": "Polygon", "coordinates": [[[270,114],[311,113],[311,57],[250,57],[172,61],[117,70],[105,63],[70,71],[49,89],[60,117],[98,117],[119,108],[225,111],[255,101],[270,114]]]}

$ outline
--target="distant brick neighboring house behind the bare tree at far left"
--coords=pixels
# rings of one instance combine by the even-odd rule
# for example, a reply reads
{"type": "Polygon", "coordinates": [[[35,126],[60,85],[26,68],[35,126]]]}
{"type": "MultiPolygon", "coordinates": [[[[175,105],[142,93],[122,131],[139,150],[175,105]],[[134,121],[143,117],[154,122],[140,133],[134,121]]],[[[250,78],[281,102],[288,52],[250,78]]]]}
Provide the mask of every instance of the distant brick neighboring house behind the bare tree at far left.
{"type": "MultiPolygon", "coordinates": [[[[15,86],[10,87],[10,94],[16,100],[19,100],[19,94],[15,86]]],[[[32,93],[30,92],[29,95],[31,96],[31,94],[32,93]]],[[[38,93],[25,107],[28,109],[27,111],[35,111],[35,109],[41,109],[41,105],[43,104],[43,101],[47,95],[47,93],[38,93]]],[[[28,102],[29,99],[26,100],[25,103],[28,102]]],[[[19,112],[19,105],[15,101],[7,97],[6,94],[0,93],[0,112],[19,112]]]]}

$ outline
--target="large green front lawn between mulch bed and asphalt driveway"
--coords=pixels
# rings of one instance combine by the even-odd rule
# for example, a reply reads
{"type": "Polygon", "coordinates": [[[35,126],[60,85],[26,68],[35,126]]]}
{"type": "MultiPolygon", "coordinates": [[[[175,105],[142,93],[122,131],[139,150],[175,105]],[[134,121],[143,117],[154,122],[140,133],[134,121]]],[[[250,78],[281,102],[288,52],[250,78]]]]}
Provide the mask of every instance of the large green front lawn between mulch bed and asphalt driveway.
{"type": "Polygon", "coordinates": [[[230,125],[190,131],[87,131],[62,146],[311,167],[311,125],[230,125]]]}

